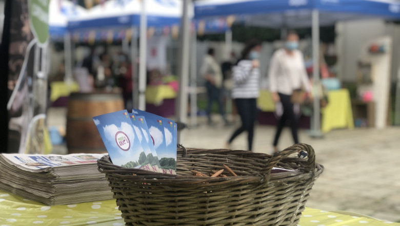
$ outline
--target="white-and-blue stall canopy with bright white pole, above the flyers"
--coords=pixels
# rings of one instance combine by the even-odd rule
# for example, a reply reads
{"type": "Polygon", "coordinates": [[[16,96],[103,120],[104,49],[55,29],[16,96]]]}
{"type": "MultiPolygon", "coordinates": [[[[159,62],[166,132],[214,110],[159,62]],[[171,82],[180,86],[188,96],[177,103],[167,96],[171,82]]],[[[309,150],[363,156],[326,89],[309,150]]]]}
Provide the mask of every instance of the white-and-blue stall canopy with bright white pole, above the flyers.
{"type": "Polygon", "coordinates": [[[91,8],[86,15],[72,18],[68,22],[68,30],[72,36],[79,36],[79,33],[90,33],[88,36],[91,39],[102,39],[104,35],[113,36],[114,33],[122,31],[123,36],[127,36],[127,40],[131,40],[132,65],[134,65],[137,55],[140,56],[138,77],[132,73],[132,83],[136,85],[136,88],[133,89],[135,93],[132,93],[134,106],[145,109],[146,71],[149,54],[147,39],[159,34],[177,37],[181,16],[182,1],[179,0],[166,2],[111,0],[91,8]],[[140,36],[139,50],[136,49],[138,36],[140,36]]]}

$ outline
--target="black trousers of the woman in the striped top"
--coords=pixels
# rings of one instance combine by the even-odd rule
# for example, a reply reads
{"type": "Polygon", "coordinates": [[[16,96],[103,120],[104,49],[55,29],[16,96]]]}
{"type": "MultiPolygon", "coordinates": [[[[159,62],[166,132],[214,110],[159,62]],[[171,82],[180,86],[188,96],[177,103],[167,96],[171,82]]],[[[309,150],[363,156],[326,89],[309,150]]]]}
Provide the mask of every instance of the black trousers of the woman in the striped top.
{"type": "Polygon", "coordinates": [[[235,99],[237,111],[242,119],[242,126],[236,129],[229,139],[231,143],[239,134],[244,131],[248,132],[247,140],[249,142],[249,150],[253,146],[253,136],[254,136],[254,122],[257,114],[257,104],[256,99],[235,99]]]}

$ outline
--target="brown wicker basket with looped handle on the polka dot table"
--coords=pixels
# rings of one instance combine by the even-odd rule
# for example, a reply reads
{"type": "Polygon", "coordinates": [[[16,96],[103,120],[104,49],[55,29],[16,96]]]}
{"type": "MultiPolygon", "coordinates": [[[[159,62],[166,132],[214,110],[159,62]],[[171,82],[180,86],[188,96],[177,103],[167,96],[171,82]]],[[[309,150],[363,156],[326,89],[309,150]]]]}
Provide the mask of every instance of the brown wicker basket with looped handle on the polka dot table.
{"type": "Polygon", "coordinates": [[[178,148],[177,174],[167,175],[97,161],[126,225],[296,225],[324,167],[314,150],[297,144],[275,155],[243,150],[178,148]],[[308,159],[288,156],[305,150],[308,159]],[[229,166],[237,176],[193,176],[229,166]],[[272,173],[277,166],[294,172],[272,173]]]}

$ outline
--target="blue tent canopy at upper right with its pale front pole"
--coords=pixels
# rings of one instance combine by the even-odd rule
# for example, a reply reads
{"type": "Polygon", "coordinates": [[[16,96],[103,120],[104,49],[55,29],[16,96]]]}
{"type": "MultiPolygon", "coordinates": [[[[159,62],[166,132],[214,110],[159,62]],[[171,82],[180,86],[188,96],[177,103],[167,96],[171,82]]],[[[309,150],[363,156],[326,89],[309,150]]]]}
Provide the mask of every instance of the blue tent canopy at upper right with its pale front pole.
{"type": "MultiPolygon", "coordinates": [[[[196,20],[235,15],[235,23],[271,28],[312,27],[313,81],[319,82],[319,26],[365,18],[400,20],[394,0],[200,0],[194,4],[196,20]]],[[[315,89],[316,90],[316,89],[315,89]]],[[[321,136],[319,98],[314,98],[311,136],[321,136]]]]}

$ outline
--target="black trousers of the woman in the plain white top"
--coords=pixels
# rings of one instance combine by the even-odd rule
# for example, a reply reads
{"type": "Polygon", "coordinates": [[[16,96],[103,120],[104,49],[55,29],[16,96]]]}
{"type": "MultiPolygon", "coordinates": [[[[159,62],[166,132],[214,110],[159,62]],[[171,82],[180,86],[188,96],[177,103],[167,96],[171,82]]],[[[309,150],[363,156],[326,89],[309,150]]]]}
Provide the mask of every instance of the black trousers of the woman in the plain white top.
{"type": "Polygon", "coordinates": [[[284,108],[283,115],[281,119],[279,119],[277,128],[276,128],[276,134],[275,134],[275,139],[274,139],[274,146],[278,144],[279,136],[281,136],[282,129],[285,127],[286,123],[289,122],[290,128],[292,129],[292,136],[293,136],[293,141],[295,144],[298,143],[298,137],[297,137],[297,118],[296,115],[294,114],[293,110],[293,104],[290,101],[290,95],[284,95],[282,93],[278,93],[279,98],[281,98],[281,102],[284,108]]]}

